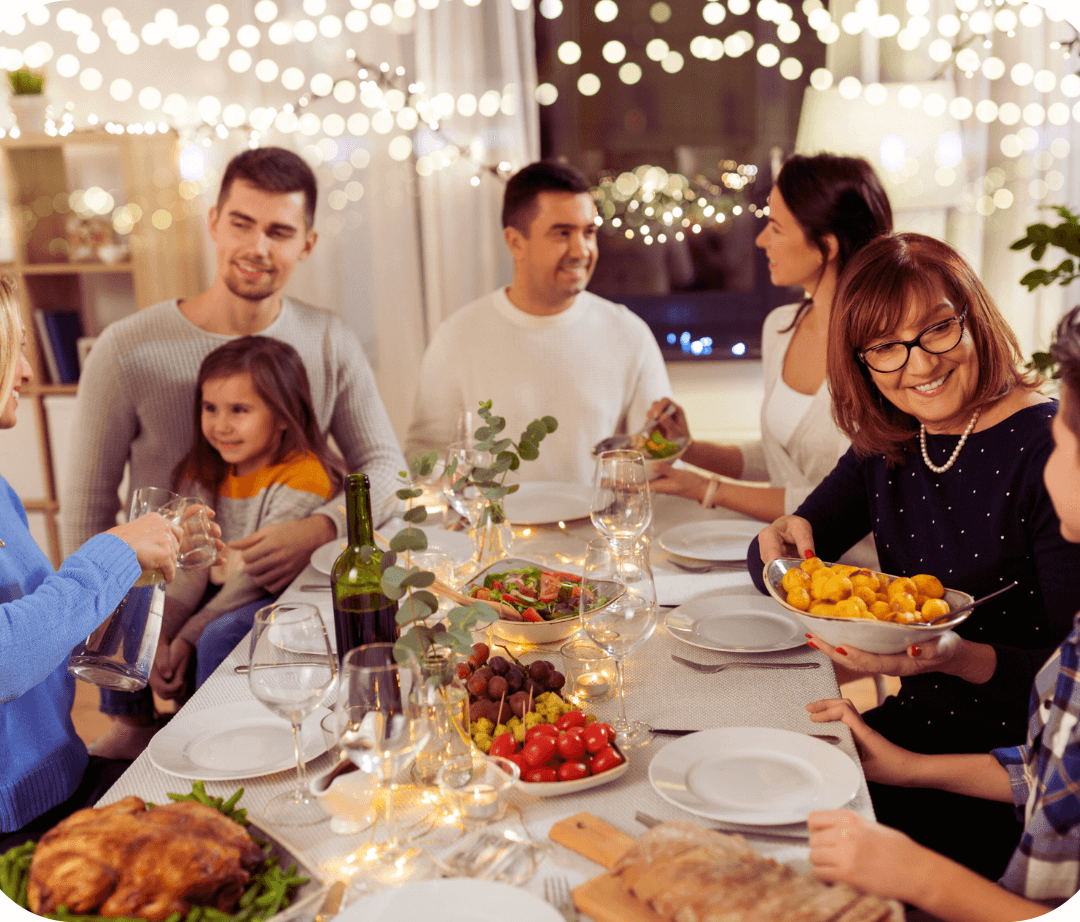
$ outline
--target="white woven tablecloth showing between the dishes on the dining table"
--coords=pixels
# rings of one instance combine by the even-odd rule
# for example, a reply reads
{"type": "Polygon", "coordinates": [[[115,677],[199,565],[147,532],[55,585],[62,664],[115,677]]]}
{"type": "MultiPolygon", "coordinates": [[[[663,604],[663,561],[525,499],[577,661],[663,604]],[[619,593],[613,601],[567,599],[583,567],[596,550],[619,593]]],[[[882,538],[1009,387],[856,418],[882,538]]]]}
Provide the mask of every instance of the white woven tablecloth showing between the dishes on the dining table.
{"type": "MultiPolygon", "coordinates": [[[[705,510],[680,497],[654,494],[652,500],[652,521],[646,534],[649,539],[650,559],[661,609],[656,632],[625,661],[627,716],[653,728],[686,730],[775,728],[798,734],[822,732],[835,734],[839,737],[836,747],[851,760],[858,772],[858,790],[846,806],[864,817],[873,818],[869,794],[850,731],[839,722],[827,724],[812,722],[805,707],[811,701],[839,695],[837,680],[827,657],[801,643],[801,638],[791,649],[771,652],[721,652],[701,649],[677,639],[664,624],[670,611],[702,594],[715,594],[717,604],[721,605],[725,595],[756,593],[756,589],[753,587],[745,564],[738,560],[717,565],[705,572],[689,572],[683,569],[679,562],[685,565],[686,561],[678,560],[664,550],[662,537],[671,529],[687,523],[748,521],[748,519],[726,510],[705,510]],[[674,655],[708,664],[753,660],[766,663],[816,663],[820,667],[775,670],[733,668],[704,675],[675,662],[672,659],[674,655]]],[[[436,511],[429,520],[429,533],[435,535],[434,543],[437,543],[437,535],[443,531],[442,513],[436,511]]],[[[384,525],[382,532],[391,534],[392,526],[384,525]]],[[[459,532],[458,539],[460,537],[459,532]]],[[[588,517],[515,525],[513,555],[569,569],[575,562],[580,566],[585,543],[595,537],[596,530],[588,517]]],[[[282,593],[279,601],[314,604],[333,634],[330,593],[319,588],[326,586],[328,589],[328,585],[325,572],[309,566],[282,593]]],[[[478,632],[476,639],[490,640],[490,631],[478,632]]],[[[545,657],[558,665],[558,651],[564,642],[559,640],[535,648],[515,645],[511,650],[524,659],[545,657]]],[[[248,643],[241,642],[173,720],[189,719],[199,711],[221,705],[254,702],[246,676],[234,670],[234,667],[246,663],[247,657],[248,643]]],[[[612,696],[599,703],[589,704],[585,709],[596,714],[602,720],[611,720],[618,716],[618,697],[612,696]]],[[[517,885],[536,896],[543,896],[545,881],[551,878],[563,878],[570,887],[576,887],[602,873],[603,868],[599,865],[556,844],[549,836],[554,824],[576,814],[592,814],[634,838],[645,831],[645,827],[636,819],[638,812],[660,821],[692,819],[710,826],[708,819],[692,816],[662,798],[650,783],[651,760],[665,746],[674,745],[673,740],[677,742],[677,737],[653,735],[646,745],[630,749],[625,754],[629,763],[625,773],[610,783],[589,790],[537,797],[529,792],[528,784],[515,785],[508,796],[509,809],[505,816],[494,826],[514,830],[531,849],[534,863],[531,872],[527,879],[517,882],[517,885]]],[[[293,754],[289,751],[286,755],[292,758],[293,754]]],[[[318,775],[329,768],[330,759],[325,754],[308,764],[310,775],[318,775]]],[[[274,795],[295,786],[295,779],[294,767],[260,777],[207,781],[205,788],[213,796],[228,797],[238,786],[243,785],[241,805],[245,806],[249,817],[258,823],[262,805],[274,795]]],[[[190,779],[166,774],[159,769],[151,759],[150,750],[147,750],[108,791],[103,803],[130,795],[152,802],[162,802],[168,792],[188,791],[190,785],[190,779]]],[[[438,810],[440,798],[436,788],[422,792],[422,799],[430,803],[433,812],[438,810]]],[[[364,850],[369,845],[374,835],[372,829],[356,835],[336,835],[330,830],[328,823],[295,828],[264,825],[264,828],[293,854],[300,857],[307,868],[322,882],[329,883],[349,878],[353,886],[347,892],[347,905],[350,899],[363,898],[364,859],[357,856],[365,854],[364,850]]],[[[375,828],[378,828],[378,824],[375,828]]],[[[460,848],[460,841],[464,837],[478,835],[472,827],[461,828],[451,823],[440,825],[436,822],[423,828],[427,831],[418,833],[414,844],[430,851],[436,857],[453,854],[456,848],[460,848]]],[[[809,870],[809,846],[806,837],[805,823],[764,825],[746,829],[747,841],[755,850],[779,862],[787,863],[799,871],[809,870]],[[777,833],[787,838],[773,838],[777,833]]],[[[308,918],[311,918],[310,912],[308,918]]],[[[584,918],[582,916],[582,919],[584,918]]]]}

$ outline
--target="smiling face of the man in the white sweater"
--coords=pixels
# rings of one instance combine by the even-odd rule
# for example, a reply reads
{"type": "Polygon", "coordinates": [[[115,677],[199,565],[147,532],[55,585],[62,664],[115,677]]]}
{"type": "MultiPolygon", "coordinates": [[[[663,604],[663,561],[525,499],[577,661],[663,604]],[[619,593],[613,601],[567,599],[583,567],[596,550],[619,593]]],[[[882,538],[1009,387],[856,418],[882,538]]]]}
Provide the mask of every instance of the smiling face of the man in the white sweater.
{"type": "Polygon", "coordinates": [[[514,258],[510,299],[532,314],[556,314],[573,303],[596,268],[596,206],[588,193],[541,192],[528,234],[504,230],[514,258]]]}

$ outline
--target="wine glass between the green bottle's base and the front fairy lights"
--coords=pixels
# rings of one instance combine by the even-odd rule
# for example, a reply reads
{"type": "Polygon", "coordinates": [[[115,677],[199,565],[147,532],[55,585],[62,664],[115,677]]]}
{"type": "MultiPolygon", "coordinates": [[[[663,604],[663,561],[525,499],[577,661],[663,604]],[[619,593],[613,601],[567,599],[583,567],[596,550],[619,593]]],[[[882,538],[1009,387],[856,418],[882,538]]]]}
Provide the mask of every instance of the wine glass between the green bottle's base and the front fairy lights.
{"type": "MultiPolygon", "coordinates": [[[[348,652],[335,713],[339,745],[363,772],[384,786],[387,837],[378,848],[384,872],[400,879],[422,853],[403,843],[394,818],[393,775],[431,736],[423,681],[415,657],[396,663],[393,643],[365,643],[348,652]]],[[[378,876],[378,870],[375,870],[378,876]]]]}

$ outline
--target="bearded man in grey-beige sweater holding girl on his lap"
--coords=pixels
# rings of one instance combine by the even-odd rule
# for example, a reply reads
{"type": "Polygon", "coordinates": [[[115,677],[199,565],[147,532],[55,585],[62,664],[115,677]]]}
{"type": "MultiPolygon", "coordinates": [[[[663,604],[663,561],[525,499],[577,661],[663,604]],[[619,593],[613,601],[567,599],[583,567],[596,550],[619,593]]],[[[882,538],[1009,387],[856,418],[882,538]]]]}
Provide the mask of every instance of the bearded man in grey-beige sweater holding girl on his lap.
{"type": "MultiPolygon", "coordinates": [[[[210,212],[217,260],[211,287],[190,300],[138,311],[98,338],[79,382],[63,497],[66,551],[116,525],[125,463],[132,487],[171,486],[191,447],[202,360],[234,337],[257,333],[299,352],[320,426],[333,435],[349,470],[370,477],[376,521],[390,514],[403,458],[360,340],[334,314],[281,295],[315,245],[315,198],[314,174],[292,151],[238,154],[210,212]]],[[[255,582],[278,593],[312,551],[343,530],[338,501],[330,500],[234,546],[255,582]]]]}

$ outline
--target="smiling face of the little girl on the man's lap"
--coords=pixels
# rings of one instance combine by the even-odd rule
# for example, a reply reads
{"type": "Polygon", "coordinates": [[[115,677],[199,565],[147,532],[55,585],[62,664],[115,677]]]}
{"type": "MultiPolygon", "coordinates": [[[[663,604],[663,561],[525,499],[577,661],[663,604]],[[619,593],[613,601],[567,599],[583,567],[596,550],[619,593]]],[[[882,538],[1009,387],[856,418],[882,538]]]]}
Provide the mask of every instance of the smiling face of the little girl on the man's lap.
{"type": "Polygon", "coordinates": [[[203,382],[202,432],[238,477],[273,462],[285,426],[252,387],[251,375],[203,382]]]}

